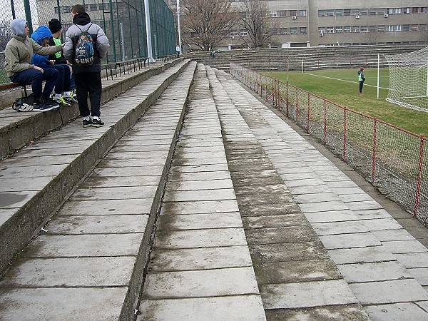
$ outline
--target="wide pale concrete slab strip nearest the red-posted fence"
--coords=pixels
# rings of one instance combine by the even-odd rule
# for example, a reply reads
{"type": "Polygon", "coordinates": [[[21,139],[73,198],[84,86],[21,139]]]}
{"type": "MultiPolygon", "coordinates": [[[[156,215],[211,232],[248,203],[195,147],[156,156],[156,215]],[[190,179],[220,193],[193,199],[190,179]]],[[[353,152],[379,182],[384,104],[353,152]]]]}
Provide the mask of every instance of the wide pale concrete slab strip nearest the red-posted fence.
{"type": "MultiPolygon", "coordinates": [[[[427,320],[427,248],[257,98],[217,75],[370,319],[427,320]]],[[[262,289],[264,302],[277,290],[262,289]]]]}

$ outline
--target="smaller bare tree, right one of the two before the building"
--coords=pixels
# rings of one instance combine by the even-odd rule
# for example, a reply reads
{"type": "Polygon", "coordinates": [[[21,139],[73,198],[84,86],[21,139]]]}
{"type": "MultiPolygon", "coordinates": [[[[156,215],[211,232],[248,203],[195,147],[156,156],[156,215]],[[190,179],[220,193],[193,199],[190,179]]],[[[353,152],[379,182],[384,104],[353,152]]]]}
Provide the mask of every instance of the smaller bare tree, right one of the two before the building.
{"type": "Polygon", "coordinates": [[[241,6],[243,14],[238,21],[238,26],[245,29],[249,36],[241,39],[250,48],[263,48],[273,39],[276,27],[272,24],[272,19],[267,14],[267,2],[260,0],[245,1],[241,6]]]}

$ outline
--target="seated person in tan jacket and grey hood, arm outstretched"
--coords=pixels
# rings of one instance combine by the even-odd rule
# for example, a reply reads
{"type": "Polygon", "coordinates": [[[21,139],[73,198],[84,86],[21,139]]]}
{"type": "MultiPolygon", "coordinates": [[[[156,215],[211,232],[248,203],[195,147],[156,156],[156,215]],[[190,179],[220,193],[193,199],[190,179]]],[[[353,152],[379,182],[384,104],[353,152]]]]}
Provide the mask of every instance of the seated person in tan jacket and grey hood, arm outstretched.
{"type": "Polygon", "coordinates": [[[49,95],[54,89],[58,71],[54,69],[46,69],[45,71],[43,68],[32,64],[31,59],[34,53],[54,54],[61,51],[63,46],[46,48],[36,44],[29,38],[29,27],[23,19],[12,20],[11,31],[13,37],[6,44],[4,50],[6,75],[14,83],[31,84],[35,110],[46,111],[58,107],[58,105],[49,103],[49,95]],[[44,88],[43,81],[46,81],[44,88]]]}

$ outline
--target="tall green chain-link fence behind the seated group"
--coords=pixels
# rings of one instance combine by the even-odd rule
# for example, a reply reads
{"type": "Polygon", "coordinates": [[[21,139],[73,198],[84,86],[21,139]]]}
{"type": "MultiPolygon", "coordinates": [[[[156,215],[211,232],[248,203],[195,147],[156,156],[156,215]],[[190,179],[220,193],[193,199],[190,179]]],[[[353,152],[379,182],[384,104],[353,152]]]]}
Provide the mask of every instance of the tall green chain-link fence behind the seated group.
{"type": "Polygon", "coordinates": [[[174,16],[163,0],[4,0],[0,6],[0,83],[10,79],[4,73],[4,49],[11,39],[12,19],[25,19],[32,31],[56,18],[65,31],[72,24],[71,8],[83,4],[91,21],[103,28],[111,47],[103,63],[133,58],[175,54],[174,16]],[[152,53],[148,54],[146,7],[151,21],[152,53]]]}

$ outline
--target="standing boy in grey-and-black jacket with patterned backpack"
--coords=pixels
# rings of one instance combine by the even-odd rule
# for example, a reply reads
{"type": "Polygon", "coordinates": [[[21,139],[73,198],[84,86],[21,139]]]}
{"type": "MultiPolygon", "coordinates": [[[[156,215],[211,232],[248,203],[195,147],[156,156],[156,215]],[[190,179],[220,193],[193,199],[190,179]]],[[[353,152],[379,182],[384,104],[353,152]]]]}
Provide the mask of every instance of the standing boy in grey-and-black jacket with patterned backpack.
{"type": "Polygon", "coordinates": [[[83,127],[101,127],[101,58],[109,44],[103,29],[91,22],[85,7],[76,4],[71,9],[73,25],[67,29],[63,55],[73,65],[76,98],[83,127]],[[91,101],[91,110],[88,106],[91,101]]]}

